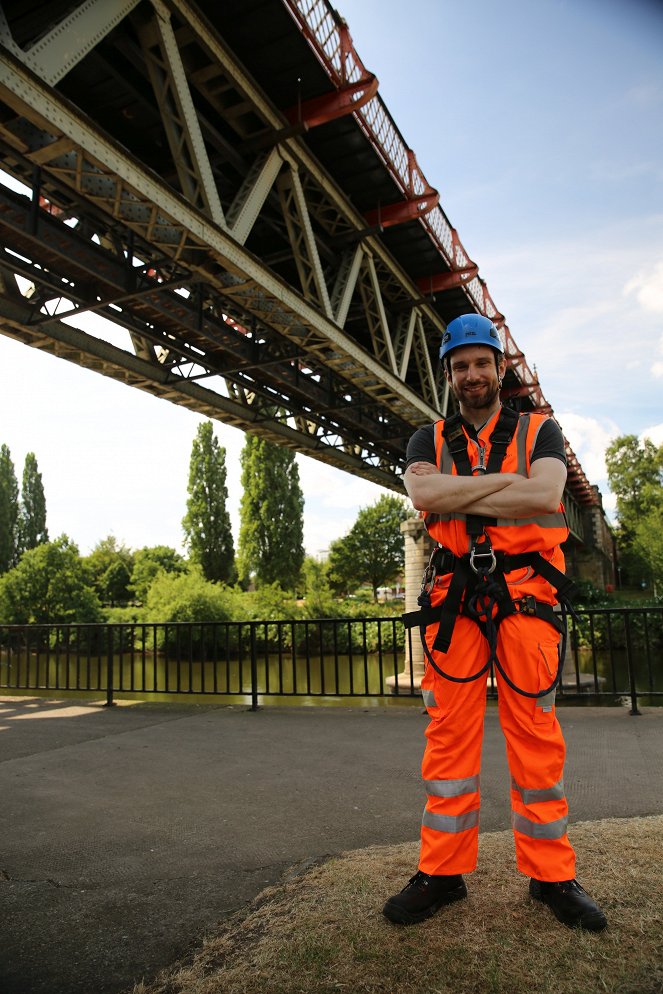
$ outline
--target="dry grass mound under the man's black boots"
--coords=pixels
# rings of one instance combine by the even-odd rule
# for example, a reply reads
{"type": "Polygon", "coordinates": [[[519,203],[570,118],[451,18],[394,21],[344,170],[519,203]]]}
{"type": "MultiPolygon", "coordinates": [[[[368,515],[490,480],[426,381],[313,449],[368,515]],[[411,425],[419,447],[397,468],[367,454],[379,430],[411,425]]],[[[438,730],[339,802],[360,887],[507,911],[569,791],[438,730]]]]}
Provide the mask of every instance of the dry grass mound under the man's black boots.
{"type": "Polygon", "coordinates": [[[468,900],[391,925],[382,904],[418,846],[374,847],[264,891],[191,965],[134,994],[661,994],[663,816],[584,822],[571,838],[605,932],[567,929],[528,897],[510,832],[480,837],[468,900]]]}

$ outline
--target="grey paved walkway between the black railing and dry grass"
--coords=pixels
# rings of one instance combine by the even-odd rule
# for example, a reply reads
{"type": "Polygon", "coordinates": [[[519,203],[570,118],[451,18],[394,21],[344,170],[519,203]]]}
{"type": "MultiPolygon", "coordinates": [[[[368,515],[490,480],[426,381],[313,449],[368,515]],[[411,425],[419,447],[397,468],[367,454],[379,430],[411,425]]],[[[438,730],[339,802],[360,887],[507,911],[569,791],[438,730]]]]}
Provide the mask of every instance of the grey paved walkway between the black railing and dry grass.
{"type": "MultiPolygon", "coordinates": [[[[663,813],[663,708],[559,715],[573,821],[663,813]]],[[[0,699],[0,991],[131,990],[284,874],[418,838],[425,724],[0,699]]],[[[489,707],[483,831],[508,828],[508,783],[489,707]]]]}

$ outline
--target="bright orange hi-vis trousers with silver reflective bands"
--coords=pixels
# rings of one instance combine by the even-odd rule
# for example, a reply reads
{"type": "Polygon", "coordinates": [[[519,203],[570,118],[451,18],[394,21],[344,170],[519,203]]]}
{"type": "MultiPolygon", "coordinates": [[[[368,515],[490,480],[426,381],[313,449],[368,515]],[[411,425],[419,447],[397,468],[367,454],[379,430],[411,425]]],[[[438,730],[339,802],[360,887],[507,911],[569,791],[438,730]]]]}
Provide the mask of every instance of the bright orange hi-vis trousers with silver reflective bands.
{"type": "MultiPolygon", "coordinates": [[[[436,630],[432,625],[427,631],[431,650],[436,630]]],[[[516,686],[538,692],[553,682],[558,642],[558,632],[547,622],[509,615],[499,626],[497,654],[516,686]]],[[[478,625],[461,615],[449,651],[432,655],[446,673],[466,677],[485,665],[489,648],[478,625]]],[[[454,683],[430,663],[426,665],[422,692],[431,721],[422,763],[428,795],[419,862],[424,873],[469,873],[476,867],[486,676],[454,683]]],[[[571,880],[575,854],[566,834],[566,748],[555,715],[554,691],[538,699],[523,697],[506,684],[499,671],[496,679],[511,772],[516,865],[537,880],[571,880]]]]}

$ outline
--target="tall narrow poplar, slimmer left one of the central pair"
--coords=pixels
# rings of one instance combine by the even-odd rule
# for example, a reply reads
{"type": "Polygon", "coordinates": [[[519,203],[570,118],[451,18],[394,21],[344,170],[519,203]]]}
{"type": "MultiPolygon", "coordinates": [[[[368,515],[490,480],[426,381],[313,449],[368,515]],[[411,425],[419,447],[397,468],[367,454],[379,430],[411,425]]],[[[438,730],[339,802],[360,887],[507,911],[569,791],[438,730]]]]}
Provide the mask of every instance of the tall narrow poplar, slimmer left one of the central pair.
{"type": "Polygon", "coordinates": [[[198,426],[189,462],[189,498],[182,519],[192,562],[207,580],[233,583],[235,546],[226,509],[226,450],[219,445],[211,421],[198,426]]]}

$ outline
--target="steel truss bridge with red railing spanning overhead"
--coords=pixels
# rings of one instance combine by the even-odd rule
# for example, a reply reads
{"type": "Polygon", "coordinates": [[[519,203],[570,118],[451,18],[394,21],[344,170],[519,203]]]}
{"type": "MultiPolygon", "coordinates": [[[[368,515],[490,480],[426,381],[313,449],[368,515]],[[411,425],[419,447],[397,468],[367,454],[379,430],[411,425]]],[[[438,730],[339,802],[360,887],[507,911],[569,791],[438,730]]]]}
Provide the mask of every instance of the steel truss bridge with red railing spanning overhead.
{"type": "Polygon", "coordinates": [[[5,0],[0,331],[399,491],[458,314],[551,411],[377,88],[327,0],[5,0]]]}

